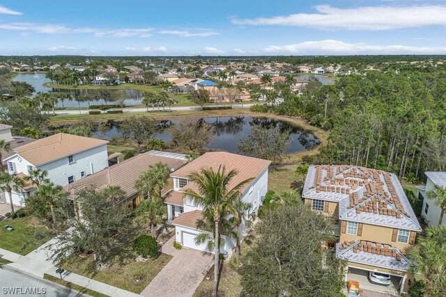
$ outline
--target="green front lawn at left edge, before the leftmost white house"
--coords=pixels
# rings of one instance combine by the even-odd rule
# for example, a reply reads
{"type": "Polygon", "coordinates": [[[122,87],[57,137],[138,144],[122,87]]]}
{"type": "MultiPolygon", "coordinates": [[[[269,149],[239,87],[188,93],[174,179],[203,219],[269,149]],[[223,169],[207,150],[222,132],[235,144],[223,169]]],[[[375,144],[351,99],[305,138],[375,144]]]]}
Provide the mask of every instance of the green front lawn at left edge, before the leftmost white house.
{"type": "Polygon", "coordinates": [[[40,239],[29,243],[25,248],[24,243],[29,241],[30,234],[36,228],[42,228],[36,225],[37,220],[33,216],[25,216],[24,218],[15,218],[14,220],[6,218],[1,221],[0,229],[0,248],[9,250],[10,252],[17,252],[20,255],[26,255],[32,250],[35,250],[43,243],[47,242],[49,238],[40,239]],[[13,231],[8,232],[4,226],[10,225],[14,228],[13,231]]]}

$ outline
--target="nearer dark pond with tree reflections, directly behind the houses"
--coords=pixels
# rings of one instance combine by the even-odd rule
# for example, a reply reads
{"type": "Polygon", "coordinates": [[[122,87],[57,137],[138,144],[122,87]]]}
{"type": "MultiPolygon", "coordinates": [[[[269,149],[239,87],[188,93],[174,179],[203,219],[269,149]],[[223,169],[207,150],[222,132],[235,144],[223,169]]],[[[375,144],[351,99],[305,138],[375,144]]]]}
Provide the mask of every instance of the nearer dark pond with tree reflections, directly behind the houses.
{"type": "MultiPolygon", "coordinates": [[[[289,130],[290,144],[286,148],[286,153],[304,152],[311,150],[320,143],[309,131],[305,131],[300,127],[293,126],[289,122],[275,120],[272,118],[252,118],[249,116],[232,116],[232,117],[215,117],[201,118],[204,122],[215,127],[215,138],[207,148],[210,150],[224,150],[226,152],[237,152],[237,146],[240,140],[249,136],[252,127],[261,126],[268,129],[277,127],[281,131],[289,130]]],[[[162,120],[159,122],[162,132],[156,134],[155,138],[161,138],[165,142],[170,141],[169,128],[175,125],[178,120],[162,120]]],[[[121,131],[119,122],[109,122],[109,125],[102,131],[96,131],[93,135],[98,138],[111,139],[120,137],[121,131]]]]}

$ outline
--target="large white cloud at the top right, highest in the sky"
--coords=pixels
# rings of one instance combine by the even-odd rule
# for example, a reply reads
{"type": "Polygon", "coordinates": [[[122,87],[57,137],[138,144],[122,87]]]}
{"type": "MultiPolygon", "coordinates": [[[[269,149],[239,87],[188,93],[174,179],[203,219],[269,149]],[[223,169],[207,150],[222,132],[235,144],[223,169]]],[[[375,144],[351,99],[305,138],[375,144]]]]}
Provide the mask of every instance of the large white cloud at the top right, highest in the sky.
{"type": "Polygon", "coordinates": [[[255,19],[233,18],[232,22],[239,25],[282,25],[366,31],[446,25],[446,6],[334,8],[322,5],[315,8],[317,13],[297,13],[255,19]]]}

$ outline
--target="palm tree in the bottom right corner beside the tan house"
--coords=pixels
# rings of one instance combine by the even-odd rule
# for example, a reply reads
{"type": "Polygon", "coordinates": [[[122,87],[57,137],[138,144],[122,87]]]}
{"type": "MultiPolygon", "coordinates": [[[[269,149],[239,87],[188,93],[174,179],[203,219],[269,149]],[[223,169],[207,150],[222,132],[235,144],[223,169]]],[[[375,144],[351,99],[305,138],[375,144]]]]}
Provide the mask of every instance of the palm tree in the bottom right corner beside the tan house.
{"type": "Polygon", "coordinates": [[[421,273],[426,283],[426,296],[446,294],[446,226],[427,227],[416,246],[408,250],[409,271],[421,273]]]}

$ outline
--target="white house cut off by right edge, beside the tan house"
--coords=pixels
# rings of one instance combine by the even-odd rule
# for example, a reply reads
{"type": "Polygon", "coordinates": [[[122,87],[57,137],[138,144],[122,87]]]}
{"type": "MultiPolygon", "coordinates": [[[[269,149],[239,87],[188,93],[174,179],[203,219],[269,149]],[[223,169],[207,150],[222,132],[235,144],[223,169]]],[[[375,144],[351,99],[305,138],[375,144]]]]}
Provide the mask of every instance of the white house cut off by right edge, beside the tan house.
{"type": "MultiPolygon", "coordinates": [[[[440,225],[441,208],[435,204],[435,200],[427,197],[427,193],[435,190],[435,185],[446,187],[446,172],[427,171],[424,174],[427,176],[426,186],[417,186],[418,198],[423,200],[421,215],[429,226],[438,226],[440,225]]],[[[446,225],[446,214],[441,225],[446,225]]]]}

